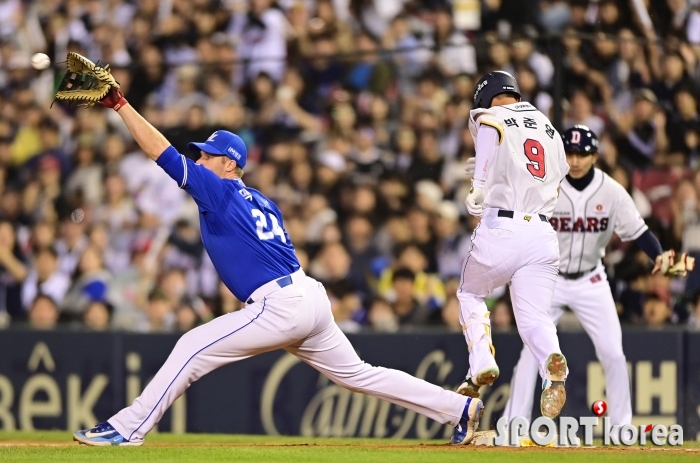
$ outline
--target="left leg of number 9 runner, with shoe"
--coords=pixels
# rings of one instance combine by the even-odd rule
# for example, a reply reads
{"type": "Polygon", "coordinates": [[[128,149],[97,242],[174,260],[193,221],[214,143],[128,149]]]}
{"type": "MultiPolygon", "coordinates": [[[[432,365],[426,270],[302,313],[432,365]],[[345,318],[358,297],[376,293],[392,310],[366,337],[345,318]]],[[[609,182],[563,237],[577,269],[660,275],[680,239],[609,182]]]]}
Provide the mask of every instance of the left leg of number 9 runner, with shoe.
{"type": "Polygon", "coordinates": [[[469,350],[467,379],[458,391],[472,397],[478,396],[480,386],[493,384],[499,375],[491,320],[484,301],[495,288],[508,283],[521,255],[517,235],[510,229],[512,221],[506,220],[511,219],[482,219],[472,236],[457,291],[459,320],[469,350]]]}

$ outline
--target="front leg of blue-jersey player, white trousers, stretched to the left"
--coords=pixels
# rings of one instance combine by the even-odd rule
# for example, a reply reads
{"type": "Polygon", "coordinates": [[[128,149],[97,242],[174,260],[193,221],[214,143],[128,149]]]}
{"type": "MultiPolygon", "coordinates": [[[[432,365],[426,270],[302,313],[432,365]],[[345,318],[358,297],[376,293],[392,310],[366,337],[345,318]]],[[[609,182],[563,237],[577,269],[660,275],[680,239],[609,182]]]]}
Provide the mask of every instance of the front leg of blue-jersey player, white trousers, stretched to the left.
{"type": "Polygon", "coordinates": [[[128,441],[143,441],[194,381],[223,365],[308,335],[313,327],[312,305],[295,283],[185,333],[141,395],[108,423],[128,441]]]}

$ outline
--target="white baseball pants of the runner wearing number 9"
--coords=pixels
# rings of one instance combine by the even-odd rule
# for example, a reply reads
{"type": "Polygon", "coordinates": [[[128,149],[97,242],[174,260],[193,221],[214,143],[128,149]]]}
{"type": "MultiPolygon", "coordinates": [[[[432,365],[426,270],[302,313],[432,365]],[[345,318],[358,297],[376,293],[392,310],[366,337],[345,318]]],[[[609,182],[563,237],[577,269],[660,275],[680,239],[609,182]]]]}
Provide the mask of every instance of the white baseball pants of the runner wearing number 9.
{"type": "Polygon", "coordinates": [[[498,209],[484,210],[472,234],[472,248],[457,291],[460,322],[469,347],[468,376],[495,362],[484,300],[495,288],[510,283],[518,332],[535,355],[540,374],[546,377],[547,357],[561,353],[549,316],[558,266],[559,244],[549,221],[538,214],[514,211],[513,218],[508,218],[498,217],[498,209]]]}

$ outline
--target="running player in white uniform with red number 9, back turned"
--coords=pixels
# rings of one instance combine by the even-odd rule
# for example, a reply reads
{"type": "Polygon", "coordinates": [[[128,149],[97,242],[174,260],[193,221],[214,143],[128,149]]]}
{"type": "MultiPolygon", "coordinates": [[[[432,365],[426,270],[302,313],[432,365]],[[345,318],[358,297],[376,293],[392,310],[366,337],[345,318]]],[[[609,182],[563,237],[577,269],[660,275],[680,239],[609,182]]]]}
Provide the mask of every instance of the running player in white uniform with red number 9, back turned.
{"type": "Polygon", "coordinates": [[[474,93],[469,128],[476,165],[467,209],[480,216],[472,234],[457,298],[469,349],[469,372],[458,392],[478,396],[499,375],[484,300],[510,284],[520,337],[543,378],[542,413],[556,417],[566,401],[566,358],[549,316],[559,265],[557,235],[549,218],[569,171],[561,136],[547,117],[520,101],[515,78],[483,76],[474,93]]]}

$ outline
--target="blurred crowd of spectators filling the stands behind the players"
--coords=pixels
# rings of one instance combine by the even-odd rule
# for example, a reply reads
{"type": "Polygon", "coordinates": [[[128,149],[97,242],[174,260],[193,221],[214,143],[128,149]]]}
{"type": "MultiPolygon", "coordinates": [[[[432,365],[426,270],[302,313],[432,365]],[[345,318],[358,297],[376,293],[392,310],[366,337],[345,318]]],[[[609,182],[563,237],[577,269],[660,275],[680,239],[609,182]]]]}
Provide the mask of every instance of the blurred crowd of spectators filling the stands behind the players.
{"type": "MultiPolygon", "coordinates": [[[[558,129],[594,130],[664,249],[700,258],[697,0],[0,0],[3,328],[186,331],[242,306],[119,116],[51,106],[67,51],[109,63],[183,154],[241,135],[244,181],[349,332],[460,329],[466,121],[491,70],[558,129]]],[[[605,264],[623,323],[700,328],[700,270],[650,276],[616,239],[605,264]]],[[[512,328],[505,288],[489,305],[512,328]]]]}

